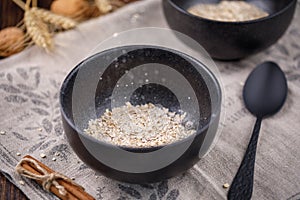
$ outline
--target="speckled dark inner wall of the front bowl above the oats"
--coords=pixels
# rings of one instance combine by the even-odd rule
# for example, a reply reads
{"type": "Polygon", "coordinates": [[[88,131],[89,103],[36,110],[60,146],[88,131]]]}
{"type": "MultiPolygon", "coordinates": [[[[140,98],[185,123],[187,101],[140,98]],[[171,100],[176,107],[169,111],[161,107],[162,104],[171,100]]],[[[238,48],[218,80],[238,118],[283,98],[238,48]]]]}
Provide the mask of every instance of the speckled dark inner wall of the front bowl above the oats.
{"type": "Polygon", "coordinates": [[[186,112],[198,132],[220,112],[221,90],[200,62],[174,50],[117,47],[80,63],[61,88],[63,114],[78,132],[106,109],[153,103],[186,112]]]}

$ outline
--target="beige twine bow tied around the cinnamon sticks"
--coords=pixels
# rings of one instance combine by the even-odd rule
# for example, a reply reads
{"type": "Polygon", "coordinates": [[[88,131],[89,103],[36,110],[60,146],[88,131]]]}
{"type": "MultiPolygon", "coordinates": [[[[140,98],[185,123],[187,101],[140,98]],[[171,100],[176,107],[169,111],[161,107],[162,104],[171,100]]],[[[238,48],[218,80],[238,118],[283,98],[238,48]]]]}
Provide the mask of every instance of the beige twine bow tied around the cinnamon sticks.
{"type": "MultiPolygon", "coordinates": [[[[57,172],[53,172],[53,173],[48,173],[44,168],[42,168],[38,162],[36,162],[35,160],[31,159],[31,158],[22,158],[22,160],[17,164],[16,166],[16,171],[24,177],[36,180],[36,181],[41,181],[42,182],[42,186],[43,189],[46,191],[50,190],[50,187],[53,185],[54,187],[57,188],[57,190],[59,191],[59,193],[61,195],[66,195],[67,191],[64,188],[64,186],[60,185],[57,180],[58,179],[62,179],[66,182],[71,183],[72,185],[76,185],[80,188],[82,188],[80,185],[78,185],[77,183],[75,183],[72,179],[59,174],[57,172]],[[27,169],[25,169],[22,164],[24,164],[25,162],[27,162],[29,165],[34,165],[35,168],[42,174],[42,175],[38,175],[38,174],[34,174],[30,171],[28,171],[27,169]]],[[[83,189],[83,188],[82,188],[83,189]]]]}

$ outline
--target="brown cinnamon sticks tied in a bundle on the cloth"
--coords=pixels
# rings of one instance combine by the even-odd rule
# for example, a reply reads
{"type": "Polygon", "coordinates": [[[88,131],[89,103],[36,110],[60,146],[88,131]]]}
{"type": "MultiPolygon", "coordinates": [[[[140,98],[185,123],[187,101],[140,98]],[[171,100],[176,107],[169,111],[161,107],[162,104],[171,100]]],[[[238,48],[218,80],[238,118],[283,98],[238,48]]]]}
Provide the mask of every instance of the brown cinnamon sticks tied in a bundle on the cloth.
{"type": "MultiPolygon", "coordinates": [[[[51,173],[56,173],[54,170],[52,170],[51,168],[49,168],[48,166],[46,166],[45,164],[43,164],[42,162],[38,161],[37,159],[26,155],[24,156],[24,158],[28,158],[28,159],[32,159],[34,161],[36,161],[36,163],[38,163],[38,165],[43,168],[45,171],[47,171],[47,173],[51,174],[51,173]]],[[[43,175],[34,164],[32,163],[27,163],[27,162],[23,162],[21,165],[24,169],[28,170],[31,173],[34,173],[36,175],[43,175]]],[[[84,189],[76,184],[72,184],[68,181],[65,181],[63,179],[57,179],[56,180],[61,186],[63,186],[65,188],[65,190],[67,191],[66,195],[62,195],[59,190],[54,186],[51,185],[50,187],[50,191],[55,194],[57,197],[59,197],[62,200],[95,200],[94,197],[92,197],[91,195],[89,195],[88,193],[86,193],[84,191],[84,189]]],[[[37,183],[39,183],[40,185],[42,184],[42,181],[36,180],[37,183]]]]}

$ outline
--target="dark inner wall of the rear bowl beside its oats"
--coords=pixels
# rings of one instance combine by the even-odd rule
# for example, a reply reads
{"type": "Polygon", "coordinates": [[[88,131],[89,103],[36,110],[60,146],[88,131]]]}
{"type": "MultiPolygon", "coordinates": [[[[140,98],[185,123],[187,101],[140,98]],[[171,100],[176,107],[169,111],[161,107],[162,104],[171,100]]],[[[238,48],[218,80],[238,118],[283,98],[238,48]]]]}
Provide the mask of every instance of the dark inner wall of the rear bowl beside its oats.
{"type": "MultiPolygon", "coordinates": [[[[199,3],[219,3],[221,0],[169,0],[181,9],[187,10],[190,7],[199,3]]],[[[254,4],[257,7],[273,15],[280,10],[284,9],[294,0],[245,0],[248,3],[254,4]]]]}

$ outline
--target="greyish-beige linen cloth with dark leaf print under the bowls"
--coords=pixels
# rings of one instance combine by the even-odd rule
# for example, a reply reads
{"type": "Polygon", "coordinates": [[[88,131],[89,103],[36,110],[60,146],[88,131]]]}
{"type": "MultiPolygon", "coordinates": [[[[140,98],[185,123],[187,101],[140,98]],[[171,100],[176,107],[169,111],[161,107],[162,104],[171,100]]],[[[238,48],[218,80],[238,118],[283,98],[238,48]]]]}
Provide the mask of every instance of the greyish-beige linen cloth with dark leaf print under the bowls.
{"type": "Polygon", "coordinates": [[[63,134],[58,104],[65,75],[98,42],[115,32],[144,27],[167,27],[160,0],[133,3],[119,11],[81,24],[55,37],[55,53],[37,47],[0,61],[0,169],[30,199],[56,199],[14,167],[22,155],[31,154],[83,185],[96,199],[226,199],[230,183],[247,147],[253,117],[242,101],[242,83],[265,60],[277,62],[286,73],[289,96],[283,109],[263,121],[258,143],[253,199],[300,198],[300,10],[284,37],[266,51],[239,62],[216,62],[226,99],[226,121],[216,146],[197,165],[175,178],[156,183],[120,183],[98,174],[74,154],[63,134]],[[59,152],[56,161],[52,161],[59,152]]]}

